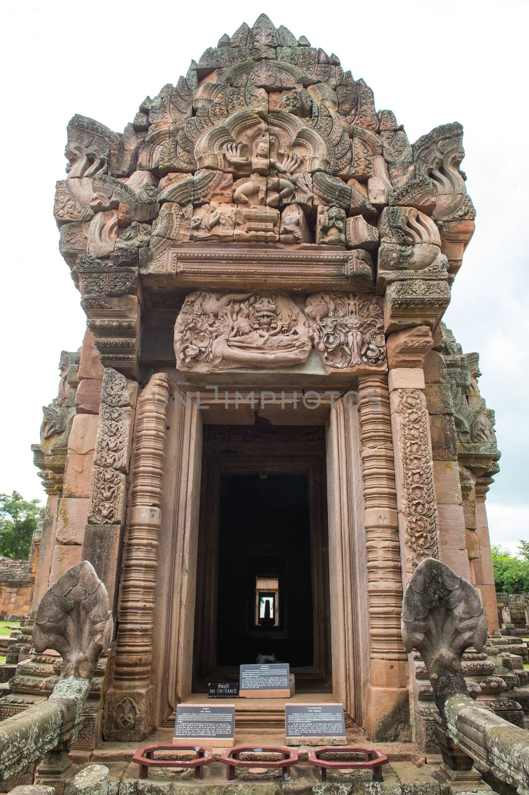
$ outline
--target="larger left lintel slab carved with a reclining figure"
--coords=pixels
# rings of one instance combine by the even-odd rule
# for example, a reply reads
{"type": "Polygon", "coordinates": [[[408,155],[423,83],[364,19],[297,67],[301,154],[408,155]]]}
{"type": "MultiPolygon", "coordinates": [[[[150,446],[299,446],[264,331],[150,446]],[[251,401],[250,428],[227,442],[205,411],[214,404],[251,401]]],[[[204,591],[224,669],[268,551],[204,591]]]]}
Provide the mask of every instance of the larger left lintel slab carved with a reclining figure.
{"type": "Polygon", "coordinates": [[[209,372],[302,363],[311,349],[303,312],[281,293],[191,293],[175,325],[176,366],[209,372]]]}

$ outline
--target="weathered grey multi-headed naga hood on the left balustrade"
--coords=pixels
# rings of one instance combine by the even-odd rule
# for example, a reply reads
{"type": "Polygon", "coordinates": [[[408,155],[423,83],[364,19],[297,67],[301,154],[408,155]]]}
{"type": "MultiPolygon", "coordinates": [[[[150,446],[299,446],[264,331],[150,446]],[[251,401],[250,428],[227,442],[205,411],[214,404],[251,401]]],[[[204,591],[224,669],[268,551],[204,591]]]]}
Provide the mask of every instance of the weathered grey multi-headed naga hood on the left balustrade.
{"type": "Polygon", "coordinates": [[[106,588],[87,560],[68,568],[44,594],[33,626],[37,653],[54,649],[64,660],[60,678],[91,677],[108,649],[112,614],[106,588]]]}

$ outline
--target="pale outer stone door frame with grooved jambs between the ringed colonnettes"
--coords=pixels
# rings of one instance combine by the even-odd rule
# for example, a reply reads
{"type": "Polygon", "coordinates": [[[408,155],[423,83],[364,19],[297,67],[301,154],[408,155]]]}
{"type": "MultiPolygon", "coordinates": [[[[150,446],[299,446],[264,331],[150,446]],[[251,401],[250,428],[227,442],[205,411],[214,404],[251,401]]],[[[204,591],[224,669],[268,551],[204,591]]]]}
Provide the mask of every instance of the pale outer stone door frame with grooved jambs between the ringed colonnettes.
{"type": "MultiPolygon", "coordinates": [[[[199,410],[199,386],[183,383],[181,374],[174,370],[166,373],[170,403],[153,626],[155,726],[164,723],[176,704],[192,691],[203,422],[217,424],[219,417],[224,417],[226,424],[237,424],[234,417],[240,416],[235,409],[232,413],[224,407],[211,413],[199,410]]],[[[343,378],[339,386],[330,380],[326,378],[323,386],[315,379],[314,389],[347,392],[343,378]]],[[[245,390],[252,388],[251,382],[245,385],[245,390]]],[[[262,385],[254,388],[264,389],[262,385]]],[[[233,389],[226,386],[226,390],[233,389]]],[[[307,392],[309,386],[304,385],[304,389],[307,392]]],[[[204,406],[203,397],[200,405],[204,406]]],[[[326,426],[332,692],[346,712],[363,725],[369,681],[369,610],[358,414],[357,409],[347,409],[341,398],[334,397],[318,410],[293,409],[288,421],[285,414],[280,417],[285,425],[326,426]]],[[[252,423],[253,415],[239,424],[252,423]]]]}

